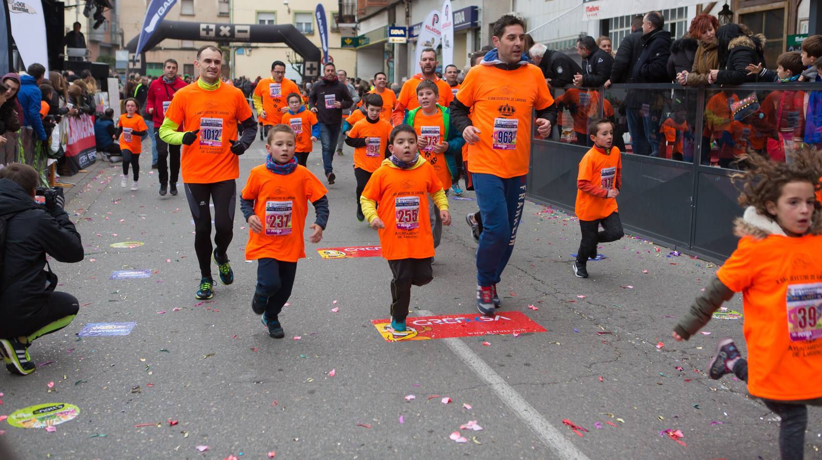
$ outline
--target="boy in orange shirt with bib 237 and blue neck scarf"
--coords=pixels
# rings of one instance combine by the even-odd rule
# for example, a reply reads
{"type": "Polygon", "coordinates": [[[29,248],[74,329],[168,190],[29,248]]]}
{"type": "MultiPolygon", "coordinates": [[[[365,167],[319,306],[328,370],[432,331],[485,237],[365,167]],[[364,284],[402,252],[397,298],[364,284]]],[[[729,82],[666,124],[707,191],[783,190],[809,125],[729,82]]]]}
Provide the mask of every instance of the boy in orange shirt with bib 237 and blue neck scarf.
{"type": "Polygon", "coordinates": [[[316,220],[308,240],[320,242],[328,223],[326,187],[294,159],[297,136],[286,125],[270,128],[266,164],[253,168],[242,189],[240,209],[248,223],[246,259],[257,260],[252,311],[273,338],[285,333],[279,312],[291,296],[297,260],[306,256],[302,228],[311,201],[316,220]]]}

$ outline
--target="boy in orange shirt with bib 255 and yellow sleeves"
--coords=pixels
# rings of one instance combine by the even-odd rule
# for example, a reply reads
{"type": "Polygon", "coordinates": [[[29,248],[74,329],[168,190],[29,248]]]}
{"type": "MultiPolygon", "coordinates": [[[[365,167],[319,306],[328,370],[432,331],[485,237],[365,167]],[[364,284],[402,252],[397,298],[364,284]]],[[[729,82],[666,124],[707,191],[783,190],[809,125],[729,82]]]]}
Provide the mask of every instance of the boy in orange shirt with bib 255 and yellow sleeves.
{"type": "Polygon", "coordinates": [[[431,264],[434,242],[428,218],[431,196],[440,210],[440,219],[451,224],[446,192],[431,163],[417,149],[417,131],[408,125],[391,130],[388,149],[391,157],[368,181],[360,204],[371,228],[380,232],[382,256],[391,273],[391,329],[403,334],[409,314],[411,286],[423,286],[433,279],[431,264]]]}

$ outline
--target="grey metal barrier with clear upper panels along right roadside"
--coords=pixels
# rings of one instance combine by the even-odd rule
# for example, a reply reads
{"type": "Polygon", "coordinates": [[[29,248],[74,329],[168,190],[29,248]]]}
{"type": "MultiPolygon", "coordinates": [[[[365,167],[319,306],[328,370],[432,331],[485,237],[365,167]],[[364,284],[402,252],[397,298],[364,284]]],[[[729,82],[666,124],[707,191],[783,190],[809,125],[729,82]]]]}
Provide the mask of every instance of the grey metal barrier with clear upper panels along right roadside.
{"type": "Polygon", "coordinates": [[[801,141],[806,118],[822,117],[806,117],[810,90],[822,83],[554,89],[561,116],[550,139],[532,142],[529,200],[573,213],[577,166],[592,145],[588,123],[608,117],[622,152],[617,202],[626,232],[721,263],[737,246],[732,222],[742,214],[734,160],[780,159],[793,136],[801,141]]]}

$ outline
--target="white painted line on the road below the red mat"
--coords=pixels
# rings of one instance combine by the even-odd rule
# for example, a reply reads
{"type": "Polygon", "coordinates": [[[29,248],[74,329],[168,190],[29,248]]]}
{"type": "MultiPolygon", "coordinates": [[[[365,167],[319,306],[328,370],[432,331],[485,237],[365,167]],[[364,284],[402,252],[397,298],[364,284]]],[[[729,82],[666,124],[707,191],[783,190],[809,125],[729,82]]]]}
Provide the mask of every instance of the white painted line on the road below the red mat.
{"type": "MultiPolygon", "coordinates": [[[[431,311],[420,310],[419,315],[433,316],[431,311]]],[[[545,417],[542,416],[536,409],[531,406],[528,401],[525,401],[520,393],[511,387],[499,374],[497,374],[491,366],[488,366],[477,353],[474,353],[468,345],[465,345],[459,338],[441,338],[441,342],[445,342],[452,352],[459,359],[463,360],[480,379],[494,390],[503,403],[513,410],[517,416],[524,421],[525,425],[529,426],[531,430],[543,441],[550,449],[556,453],[559,458],[566,458],[568,460],[589,460],[589,458],[580,449],[577,449],[559,430],[556,430],[545,417]]]]}

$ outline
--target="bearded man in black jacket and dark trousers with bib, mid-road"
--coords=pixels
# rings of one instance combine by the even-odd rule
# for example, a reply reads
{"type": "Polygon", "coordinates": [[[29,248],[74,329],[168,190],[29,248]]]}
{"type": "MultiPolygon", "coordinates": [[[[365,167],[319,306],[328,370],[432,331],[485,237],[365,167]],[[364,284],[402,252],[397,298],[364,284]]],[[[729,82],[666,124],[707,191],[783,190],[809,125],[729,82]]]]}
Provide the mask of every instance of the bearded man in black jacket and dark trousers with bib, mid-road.
{"type": "Polygon", "coordinates": [[[316,113],[320,122],[320,142],[322,144],[322,167],[326,179],[333,184],[336,176],[331,162],[334,161],[334,148],[337,145],[339,128],[343,124],[343,109],[354,104],[348,87],[339,81],[337,68],[331,62],[322,67],[322,80],[312,86],[308,95],[308,107],[316,113]]]}

